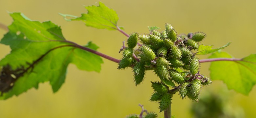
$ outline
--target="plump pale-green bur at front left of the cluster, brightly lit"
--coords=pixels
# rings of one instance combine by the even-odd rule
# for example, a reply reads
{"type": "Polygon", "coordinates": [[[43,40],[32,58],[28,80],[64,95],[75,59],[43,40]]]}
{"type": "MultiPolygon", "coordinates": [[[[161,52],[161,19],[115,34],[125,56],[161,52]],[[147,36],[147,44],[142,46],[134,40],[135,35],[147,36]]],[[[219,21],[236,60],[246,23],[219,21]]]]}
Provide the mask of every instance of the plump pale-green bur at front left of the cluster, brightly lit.
{"type": "Polygon", "coordinates": [[[142,54],[140,55],[142,61],[151,61],[156,58],[155,52],[148,46],[142,45],[140,48],[142,51],[142,54]]]}

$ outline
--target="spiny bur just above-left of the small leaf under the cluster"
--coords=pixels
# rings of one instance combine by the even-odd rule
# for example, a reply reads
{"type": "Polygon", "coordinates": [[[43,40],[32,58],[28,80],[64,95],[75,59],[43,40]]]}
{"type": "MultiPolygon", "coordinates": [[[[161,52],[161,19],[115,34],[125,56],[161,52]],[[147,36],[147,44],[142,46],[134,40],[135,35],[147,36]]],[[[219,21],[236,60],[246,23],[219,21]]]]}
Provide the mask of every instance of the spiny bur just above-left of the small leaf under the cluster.
{"type": "Polygon", "coordinates": [[[168,80],[170,78],[170,74],[167,66],[157,65],[157,68],[155,69],[155,71],[161,79],[168,80]]]}

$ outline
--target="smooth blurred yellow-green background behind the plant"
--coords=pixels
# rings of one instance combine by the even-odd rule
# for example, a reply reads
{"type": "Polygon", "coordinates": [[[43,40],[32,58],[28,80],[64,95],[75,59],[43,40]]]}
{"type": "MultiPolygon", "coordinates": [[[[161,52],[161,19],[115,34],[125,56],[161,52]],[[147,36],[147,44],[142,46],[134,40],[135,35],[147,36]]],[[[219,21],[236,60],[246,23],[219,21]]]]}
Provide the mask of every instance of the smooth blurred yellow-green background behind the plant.
{"type": "MultiPolygon", "coordinates": [[[[255,0],[101,0],[117,11],[118,25],[125,32],[148,33],[148,26],[158,26],[163,30],[164,23],[170,23],[177,32],[189,33],[203,31],[207,34],[205,45],[221,47],[227,42],[232,44],[224,49],[236,58],[256,52],[256,1],[255,0]]],[[[98,30],[85,27],[82,22],[67,22],[58,13],[80,16],[86,13],[85,6],[96,5],[94,0],[0,0],[0,22],[10,25],[7,13],[23,12],[32,20],[48,21],[61,26],[66,39],[84,45],[88,41],[96,43],[99,51],[115,58],[122,41],[126,37],[118,31],[98,30]]],[[[6,31],[0,29],[2,38],[6,31]]],[[[10,48],[0,45],[0,58],[10,52],[10,48]]],[[[208,56],[208,55],[207,55],[208,56]]],[[[207,56],[200,56],[201,59],[207,56]]],[[[201,64],[201,73],[209,76],[209,63],[201,64]]],[[[230,78],[232,80],[232,78],[230,78]]],[[[128,114],[139,114],[138,104],[149,111],[159,113],[158,104],[149,101],[152,94],[150,81],[157,80],[151,72],[146,73],[143,84],[135,86],[131,69],[117,70],[117,64],[104,59],[100,73],[78,70],[74,65],[68,68],[66,82],[53,94],[48,82],[40,84],[20,96],[0,101],[1,118],[123,118],[128,114]]],[[[204,87],[217,90],[226,86],[221,81],[204,87]]],[[[217,92],[218,93],[218,92],[217,92]]],[[[241,106],[245,116],[253,118],[256,106],[256,87],[248,96],[228,91],[231,106],[241,106]]],[[[174,95],[172,114],[177,118],[192,117],[190,107],[193,103],[174,95]]],[[[163,113],[159,113],[163,116],[163,113]]]]}

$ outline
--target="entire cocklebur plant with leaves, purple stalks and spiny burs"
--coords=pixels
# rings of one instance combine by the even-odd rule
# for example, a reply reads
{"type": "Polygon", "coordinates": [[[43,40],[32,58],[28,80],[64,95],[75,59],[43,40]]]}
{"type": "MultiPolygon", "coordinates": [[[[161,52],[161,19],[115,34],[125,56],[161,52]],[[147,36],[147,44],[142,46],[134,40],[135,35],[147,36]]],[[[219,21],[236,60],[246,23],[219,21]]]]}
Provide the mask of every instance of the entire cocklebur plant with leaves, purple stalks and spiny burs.
{"type": "MultiPolygon", "coordinates": [[[[0,41],[11,47],[11,53],[0,61],[0,99],[17,96],[33,87],[38,88],[39,83],[46,81],[50,82],[53,92],[56,92],[64,83],[70,63],[81,70],[99,72],[103,63],[101,57],[118,63],[118,69],[132,68],[136,86],[146,81],[147,70],[153,70],[159,79],[151,82],[153,93],[149,100],[159,104],[160,112],[164,112],[165,118],[171,117],[172,96],[177,92],[182,99],[198,101],[202,87],[209,85],[211,80],[223,80],[229,89],[245,95],[255,84],[255,54],[242,59],[233,58],[221,51],[230,43],[212,49],[212,46],[201,44],[205,33],[178,35],[168,23],[162,31],[158,27],[148,27],[147,34],[133,32],[129,35],[117,26],[116,11],[103,3],[86,9],[88,13],[81,17],[60,15],[67,21],[83,21],[86,26],[120,31],[127,37],[120,49],[121,59],[98,52],[98,46],[92,42],[81,46],[68,41],[62,35],[60,27],[51,21],[41,23],[30,20],[22,13],[10,13],[14,21],[0,41]],[[205,54],[212,55],[209,59],[197,57],[205,54]],[[211,62],[210,77],[200,73],[200,64],[204,62],[211,62]],[[230,82],[230,78],[236,82],[236,86],[234,82],[230,82]]],[[[141,114],[127,117],[156,118],[157,114],[142,108],[141,114]],[[143,115],[144,112],[146,114],[143,115]]]]}

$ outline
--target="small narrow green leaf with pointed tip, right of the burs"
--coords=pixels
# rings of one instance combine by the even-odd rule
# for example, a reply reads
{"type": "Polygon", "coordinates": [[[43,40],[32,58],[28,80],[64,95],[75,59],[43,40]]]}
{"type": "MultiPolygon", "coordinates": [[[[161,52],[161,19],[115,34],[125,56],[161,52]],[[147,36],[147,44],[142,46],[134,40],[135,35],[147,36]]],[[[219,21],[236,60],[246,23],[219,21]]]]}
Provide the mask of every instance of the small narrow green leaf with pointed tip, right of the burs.
{"type": "Polygon", "coordinates": [[[224,49],[226,48],[229,44],[231,44],[231,42],[228,42],[226,45],[224,45],[223,47],[217,48],[217,49],[212,49],[213,46],[204,46],[204,45],[200,45],[199,48],[197,49],[197,55],[205,55],[205,54],[210,54],[213,52],[216,52],[220,49],[224,49]]]}

